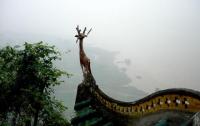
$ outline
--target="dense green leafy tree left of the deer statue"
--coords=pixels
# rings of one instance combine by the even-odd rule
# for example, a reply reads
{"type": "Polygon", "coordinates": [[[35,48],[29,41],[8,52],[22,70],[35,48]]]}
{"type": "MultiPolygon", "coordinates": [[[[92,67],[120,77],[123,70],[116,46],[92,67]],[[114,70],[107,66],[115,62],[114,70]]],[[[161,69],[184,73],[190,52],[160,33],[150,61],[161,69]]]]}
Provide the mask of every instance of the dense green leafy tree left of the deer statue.
{"type": "Polygon", "coordinates": [[[43,42],[0,49],[0,125],[69,125],[66,107],[53,96],[59,77],[70,76],[54,67],[59,56],[43,42]]]}

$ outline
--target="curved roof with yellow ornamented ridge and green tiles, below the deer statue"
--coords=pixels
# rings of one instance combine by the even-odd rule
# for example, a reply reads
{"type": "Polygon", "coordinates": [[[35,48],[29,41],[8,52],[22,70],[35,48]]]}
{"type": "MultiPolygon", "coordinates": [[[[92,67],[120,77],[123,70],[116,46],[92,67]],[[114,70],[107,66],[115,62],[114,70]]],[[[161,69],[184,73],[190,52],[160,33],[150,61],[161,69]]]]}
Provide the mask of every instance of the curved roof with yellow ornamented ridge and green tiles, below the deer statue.
{"type": "Polygon", "coordinates": [[[194,114],[200,111],[200,92],[167,89],[138,101],[122,102],[107,96],[94,77],[87,75],[78,86],[74,109],[74,126],[189,126],[199,119],[194,114]]]}

